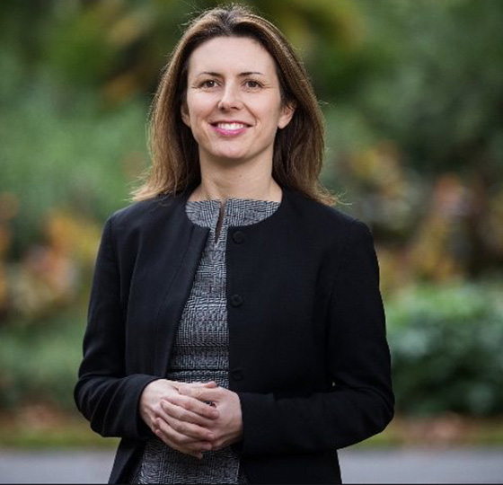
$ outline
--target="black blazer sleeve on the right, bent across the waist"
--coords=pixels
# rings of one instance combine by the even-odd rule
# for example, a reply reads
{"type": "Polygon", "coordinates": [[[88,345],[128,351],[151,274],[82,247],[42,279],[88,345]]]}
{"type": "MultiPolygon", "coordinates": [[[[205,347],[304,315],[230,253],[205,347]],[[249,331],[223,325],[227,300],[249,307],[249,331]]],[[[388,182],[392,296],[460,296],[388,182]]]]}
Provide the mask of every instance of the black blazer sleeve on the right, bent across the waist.
{"type": "Polygon", "coordinates": [[[305,398],[238,392],[243,454],[315,453],[353,445],[393,418],[391,359],[379,267],[365,224],[355,220],[331,288],[329,392],[305,398]]]}

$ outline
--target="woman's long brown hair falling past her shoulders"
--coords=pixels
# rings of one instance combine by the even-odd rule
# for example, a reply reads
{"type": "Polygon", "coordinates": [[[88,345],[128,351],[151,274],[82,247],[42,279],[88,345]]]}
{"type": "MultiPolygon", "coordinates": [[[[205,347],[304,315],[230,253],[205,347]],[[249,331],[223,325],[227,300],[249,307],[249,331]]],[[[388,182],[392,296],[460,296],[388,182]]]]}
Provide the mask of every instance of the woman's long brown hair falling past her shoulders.
{"type": "Polygon", "coordinates": [[[190,22],[172,51],[149,113],[152,167],[143,185],[132,192],[132,199],[174,195],[199,184],[198,144],[181,119],[181,103],[187,90],[190,54],[215,37],[258,40],[274,58],[282,101],[294,103],[296,110],[287,127],[278,129],[276,134],[272,176],[281,186],[332,205],[335,198],[319,180],[324,152],[322,110],[304,66],[276,26],[249,8],[235,4],[199,15],[190,22]]]}

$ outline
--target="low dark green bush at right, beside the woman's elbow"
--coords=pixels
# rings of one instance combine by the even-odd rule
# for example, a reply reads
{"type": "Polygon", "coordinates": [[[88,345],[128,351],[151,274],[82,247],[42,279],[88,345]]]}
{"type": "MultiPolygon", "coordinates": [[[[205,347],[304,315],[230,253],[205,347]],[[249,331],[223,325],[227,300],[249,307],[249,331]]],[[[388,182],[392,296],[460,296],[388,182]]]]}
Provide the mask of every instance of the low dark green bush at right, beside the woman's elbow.
{"type": "Polygon", "coordinates": [[[387,306],[398,409],[490,416],[503,410],[503,286],[408,288],[387,306]]]}

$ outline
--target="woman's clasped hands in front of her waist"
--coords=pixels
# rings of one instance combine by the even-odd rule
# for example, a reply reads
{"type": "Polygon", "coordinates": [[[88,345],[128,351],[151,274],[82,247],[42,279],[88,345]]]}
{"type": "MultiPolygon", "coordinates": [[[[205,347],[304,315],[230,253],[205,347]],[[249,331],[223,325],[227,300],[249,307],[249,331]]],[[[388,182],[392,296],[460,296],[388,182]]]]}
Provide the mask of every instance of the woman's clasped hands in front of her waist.
{"type": "Polygon", "coordinates": [[[232,445],[243,435],[238,395],[213,381],[153,381],[142,392],[139,412],[166,445],[199,459],[203,452],[232,445]]]}

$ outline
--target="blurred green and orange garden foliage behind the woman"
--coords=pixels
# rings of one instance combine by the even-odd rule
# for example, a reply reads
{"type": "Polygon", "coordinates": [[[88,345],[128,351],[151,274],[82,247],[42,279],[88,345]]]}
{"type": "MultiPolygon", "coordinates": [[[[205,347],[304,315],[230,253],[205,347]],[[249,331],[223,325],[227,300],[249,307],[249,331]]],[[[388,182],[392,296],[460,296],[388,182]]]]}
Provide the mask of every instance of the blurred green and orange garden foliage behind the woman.
{"type": "MultiPolygon", "coordinates": [[[[242,3],[304,59],[322,180],[375,236],[397,417],[362,446],[503,445],[503,2],[242,3]]],[[[149,164],[182,24],[216,4],[0,3],[0,446],[116,444],[72,396],[101,227],[149,164]]]]}

